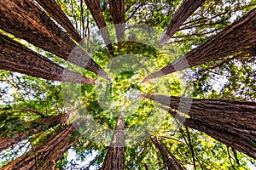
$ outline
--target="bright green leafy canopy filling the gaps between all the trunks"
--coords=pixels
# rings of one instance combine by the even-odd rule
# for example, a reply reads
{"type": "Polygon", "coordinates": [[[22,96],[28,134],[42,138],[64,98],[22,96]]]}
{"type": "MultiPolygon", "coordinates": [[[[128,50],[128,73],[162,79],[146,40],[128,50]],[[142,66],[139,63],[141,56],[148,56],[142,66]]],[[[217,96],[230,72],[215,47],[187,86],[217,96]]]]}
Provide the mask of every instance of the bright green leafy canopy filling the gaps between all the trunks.
{"type": "MultiPolygon", "coordinates": [[[[26,44],[26,47],[43,54],[56,64],[77,71],[86,77],[95,78],[98,84],[93,87],[60,83],[10,71],[0,71],[0,138],[14,138],[15,132],[33,129],[38,125],[27,126],[27,122],[42,116],[57,116],[67,112],[77,113],[67,123],[50,129],[45,127],[41,133],[28,135],[27,138],[31,140],[31,144],[37,146],[60,132],[68,123],[73,123],[74,120],[82,117],[79,131],[73,133],[70,139],[73,141],[81,135],[81,132],[87,132],[72,147],[77,157],[73,161],[68,160],[67,150],[61,160],[57,162],[56,168],[75,169],[74,161],[86,161],[93,152],[96,152],[96,156],[92,161],[80,168],[100,167],[107,153],[106,144],[111,140],[117,118],[120,113],[125,112],[125,129],[127,131],[137,129],[131,132],[135,138],[127,139],[135,141],[141,139],[136,144],[128,145],[125,148],[125,167],[127,169],[145,169],[144,163],[148,165],[149,169],[165,169],[160,152],[155,149],[151,140],[146,138],[147,135],[143,131],[146,127],[152,130],[150,133],[161,139],[161,143],[165,144],[185,167],[193,169],[193,157],[188,144],[188,136],[183,133],[185,128],[178,127],[173,117],[160,110],[153,101],[143,99],[139,94],[135,96],[136,98],[131,96],[130,94],[134,94],[134,92],[178,97],[191,94],[194,98],[199,99],[255,101],[255,53],[246,58],[232,59],[216,68],[213,68],[214,65],[218,65],[221,61],[209,62],[189,71],[181,71],[178,74],[142,83],[143,77],[147,76],[149,72],[156,71],[183,54],[189,53],[192,48],[199,46],[201,42],[206,42],[209,37],[223,30],[225,26],[229,26],[233,20],[255,8],[255,0],[206,1],[201,8],[195,11],[195,14],[186,20],[165,47],[160,47],[159,42],[156,42],[155,46],[150,44],[152,39],[158,39],[158,37],[149,37],[147,33],[140,32],[140,29],[128,30],[128,36],[124,41],[113,41],[113,56],[108,54],[108,48],[99,41],[97,36],[100,31],[96,29],[96,22],[85,3],[81,7],[80,1],[76,0],[58,0],[57,2],[84,38],[86,47],[90,47],[90,49],[84,48],[84,50],[91,54],[91,57],[98,65],[102,66],[104,71],[108,72],[113,81],[102,80],[94,73],[40,48],[33,47],[27,42],[22,42],[12,35],[9,36],[26,44]],[[81,8],[83,8],[83,14],[81,14],[81,8]],[[132,38],[133,41],[131,41],[132,38]],[[132,59],[143,61],[143,66],[141,63],[128,63],[127,60],[122,60],[125,57],[129,59],[131,56],[132,59]],[[117,62],[117,68],[113,67],[113,61],[117,62]],[[86,116],[90,116],[92,121],[83,119],[86,116]],[[98,134],[102,134],[102,136],[99,137],[98,134]],[[96,142],[99,139],[102,139],[102,143],[96,142]]],[[[163,32],[181,3],[180,0],[125,1],[126,24],[128,26],[152,26],[157,28],[157,31],[163,32]]],[[[108,1],[102,0],[100,4],[103,17],[109,26],[110,37],[114,40],[115,31],[112,26],[108,1]]],[[[5,31],[0,31],[8,34],[5,31]]],[[[154,32],[155,30],[151,31],[152,34],[160,33],[154,32]]],[[[233,55],[228,57],[233,57],[233,55]]],[[[248,161],[256,164],[255,160],[231,149],[229,149],[229,159],[227,147],[204,133],[189,129],[189,134],[195,152],[197,169],[247,169],[248,161]]],[[[30,144],[28,144],[30,142],[25,141],[25,143],[16,144],[12,148],[3,150],[0,167],[15,159],[17,153],[26,153],[26,150],[30,148],[30,144]]]]}

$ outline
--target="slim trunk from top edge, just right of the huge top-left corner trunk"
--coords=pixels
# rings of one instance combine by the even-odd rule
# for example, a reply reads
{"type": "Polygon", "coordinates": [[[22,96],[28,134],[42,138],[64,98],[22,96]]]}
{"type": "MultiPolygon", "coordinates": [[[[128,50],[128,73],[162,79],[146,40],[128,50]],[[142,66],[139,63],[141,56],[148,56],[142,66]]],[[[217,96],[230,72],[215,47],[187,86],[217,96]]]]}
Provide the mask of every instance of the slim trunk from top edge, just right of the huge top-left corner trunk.
{"type": "Polygon", "coordinates": [[[82,41],[82,38],[79,35],[79,32],[73,27],[71,21],[67,18],[67,15],[61,9],[61,6],[56,3],[55,0],[37,0],[41,7],[52,17],[55,21],[57,21],[67,33],[73,37],[73,39],[77,42],[82,41]]]}

